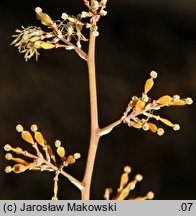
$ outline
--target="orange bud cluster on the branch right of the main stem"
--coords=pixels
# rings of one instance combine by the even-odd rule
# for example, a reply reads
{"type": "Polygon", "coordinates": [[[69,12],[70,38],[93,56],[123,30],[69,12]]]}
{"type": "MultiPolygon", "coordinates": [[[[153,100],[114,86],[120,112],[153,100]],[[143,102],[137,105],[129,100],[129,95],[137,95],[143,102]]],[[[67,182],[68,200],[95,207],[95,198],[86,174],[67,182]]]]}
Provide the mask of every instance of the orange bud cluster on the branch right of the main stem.
{"type": "Polygon", "coordinates": [[[172,123],[166,118],[162,118],[159,115],[153,114],[154,111],[159,110],[162,107],[168,106],[183,106],[190,105],[193,103],[193,100],[188,98],[180,98],[179,95],[169,96],[164,95],[157,100],[152,100],[148,96],[148,92],[154,85],[154,79],[157,77],[155,71],[151,71],[150,78],[147,79],[144,85],[144,91],[141,97],[133,96],[129,102],[123,116],[122,121],[127,124],[129,127],[134,127],[137,129],[143,129],[144,131],[150,130],[153,133],[158,135],[164,134],[164,129],[158,127],[155,123],[151,122],[151,119],[160,121],[165,125],[172,127],[173,130],[179,130],[180,125],[172,123]]]}

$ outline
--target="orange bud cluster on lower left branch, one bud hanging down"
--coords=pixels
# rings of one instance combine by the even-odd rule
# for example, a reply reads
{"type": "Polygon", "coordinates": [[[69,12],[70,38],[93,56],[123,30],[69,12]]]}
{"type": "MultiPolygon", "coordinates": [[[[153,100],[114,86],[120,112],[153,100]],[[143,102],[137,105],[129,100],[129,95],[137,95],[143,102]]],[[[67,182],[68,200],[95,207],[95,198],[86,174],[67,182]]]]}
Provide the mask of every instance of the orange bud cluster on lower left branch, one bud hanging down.
{"type": "MultiPolygon", "coordinates": [[[[58,176],[59,174],[64,175],[70,181],[74,181],[68,173],[66,173],[63,168],[70,164],[74,164],[77,159],[80,158],[80,153],[75,153],[74,155],[66,156],[66,150],[61,146],[60,140],[55,141],[56,154],[53,153],[52,148],[48,145],[43,138],[42,134],[38,131],[37,125],[33,124],[31,126],[31,131],[34,135],[31,135],[29,131],[23,129],[22,125],[17,125],[16,130],[21,134],[23,140],[30,143],[35,150],[35,154],[23,150],[20,147],[12,147],[10,144],[4,146],[5,151],[8,153],[5,155],[7,160],[12,160],[15,162],[13,166],[7,166],[5,168],[6,173],[22,173],[26,170],[40,170],[40,171],[52,171],[55,173],[54,177],[54,196],[53,199],[57,199],[58,192],[58,176]],[[14,157],[12,153],[20,155],[21,157],[14,157]],[[56,156],[58,155],[59,160],[56,156]],[[23,159],[26,158],[26,159],[23,159]],[[60,161],[60,162],[59,162],[60,161]]],[[[78,182],[75,181],[75,184],[78,182]]]]}

